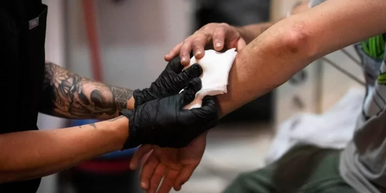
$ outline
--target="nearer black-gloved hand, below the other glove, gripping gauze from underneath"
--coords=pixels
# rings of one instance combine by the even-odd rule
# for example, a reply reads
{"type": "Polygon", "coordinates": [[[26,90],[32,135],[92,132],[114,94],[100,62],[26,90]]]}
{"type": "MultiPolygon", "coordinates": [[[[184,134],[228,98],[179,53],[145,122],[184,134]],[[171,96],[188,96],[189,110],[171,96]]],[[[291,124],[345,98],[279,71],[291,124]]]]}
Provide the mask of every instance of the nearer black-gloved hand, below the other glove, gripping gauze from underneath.
{"type": "Polygon", "coordinates": [[[195,78],[177,95],[156,99],[139,105],[134,111],[122,110],[129,119],[129,138],[124,149],[142,144],[180,148],[188,145],[218,122],[218,102],[206,96],[201,108],[183,107],[194,100],[201,89],[201,79],[195,78]]]}

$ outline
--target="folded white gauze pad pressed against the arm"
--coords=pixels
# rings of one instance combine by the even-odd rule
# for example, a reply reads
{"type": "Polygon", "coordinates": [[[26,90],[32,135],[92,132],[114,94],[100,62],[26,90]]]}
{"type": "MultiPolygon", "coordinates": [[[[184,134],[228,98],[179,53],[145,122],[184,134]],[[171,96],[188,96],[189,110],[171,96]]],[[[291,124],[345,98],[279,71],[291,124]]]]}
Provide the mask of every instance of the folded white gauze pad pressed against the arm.
{"type": "Polygon", "coordinates": [[[195,100],[187,104],[184,109],[200,108],[202,99],[206,95],[214,96],[227,92],[228,76],[236,55],[236,48],[226,50],[225,52],[210,49],[205,50],[205,55],[202,59],[198,60],[195,57],[190,59],[190,64],[185,66],[184,70],[195,63],[199,64],[202,67],[202,75],[200,76],[202,87],[196,93],[195,100]]]}

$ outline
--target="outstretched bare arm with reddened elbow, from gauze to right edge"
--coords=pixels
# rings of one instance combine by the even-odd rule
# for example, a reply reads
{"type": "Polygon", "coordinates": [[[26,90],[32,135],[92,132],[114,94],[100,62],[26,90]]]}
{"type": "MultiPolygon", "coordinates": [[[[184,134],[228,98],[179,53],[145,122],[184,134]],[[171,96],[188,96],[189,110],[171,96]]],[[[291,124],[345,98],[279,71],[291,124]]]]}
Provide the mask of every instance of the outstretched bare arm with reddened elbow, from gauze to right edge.
{"type": "Polygon", "coordinates": [[[220,116],[272,91],[319,57],[385,32],[382,9],[383,0],[327,1],[276,23],[238,53],[228,92],[218,96],[220,116]]]}

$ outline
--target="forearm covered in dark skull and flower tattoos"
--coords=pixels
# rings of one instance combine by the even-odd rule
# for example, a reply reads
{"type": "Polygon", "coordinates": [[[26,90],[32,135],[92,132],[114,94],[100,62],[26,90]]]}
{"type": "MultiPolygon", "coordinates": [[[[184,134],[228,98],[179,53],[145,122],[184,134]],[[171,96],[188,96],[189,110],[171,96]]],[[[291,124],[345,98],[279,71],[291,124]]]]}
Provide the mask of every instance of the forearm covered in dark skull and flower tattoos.
{"type": "Polygon", "coordinates": [[[41,112],[65,118],[109,119],[127,108],[132,93],[46,62],[41,112]]]}

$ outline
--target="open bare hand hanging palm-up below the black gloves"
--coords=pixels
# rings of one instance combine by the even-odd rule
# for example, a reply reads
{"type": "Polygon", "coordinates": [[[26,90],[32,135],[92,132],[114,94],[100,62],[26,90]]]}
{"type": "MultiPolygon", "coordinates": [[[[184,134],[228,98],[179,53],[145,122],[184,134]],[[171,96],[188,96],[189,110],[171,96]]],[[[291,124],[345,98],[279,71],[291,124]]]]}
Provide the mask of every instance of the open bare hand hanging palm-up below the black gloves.
{"type": "Polygon", "coordinates": [[[143,145],[134,154],[131,169],[138,167],[139,161],[151,150],[141,172],[141,187],[147,193],[155,193],[164,178],[158,193],[168,193],[172,187],[180,190],[201,161],[206,146],[206,134],[198,136],[184,148],[160,148],[143,145]]]}

